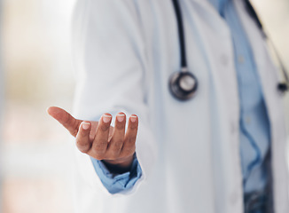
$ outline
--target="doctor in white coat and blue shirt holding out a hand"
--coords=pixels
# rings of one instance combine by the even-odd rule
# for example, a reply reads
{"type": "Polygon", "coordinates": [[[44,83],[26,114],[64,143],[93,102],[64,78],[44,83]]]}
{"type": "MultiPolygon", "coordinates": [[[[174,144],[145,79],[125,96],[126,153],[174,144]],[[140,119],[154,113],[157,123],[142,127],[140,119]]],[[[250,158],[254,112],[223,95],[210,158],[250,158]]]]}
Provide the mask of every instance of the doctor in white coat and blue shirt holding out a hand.
{"type": "Polygon", "coordinates": [[[81,120],[48,112],[76,137],[76,212],[289,212],[280,75],[248,1],[82,0],[73,41],[81,120]]]}

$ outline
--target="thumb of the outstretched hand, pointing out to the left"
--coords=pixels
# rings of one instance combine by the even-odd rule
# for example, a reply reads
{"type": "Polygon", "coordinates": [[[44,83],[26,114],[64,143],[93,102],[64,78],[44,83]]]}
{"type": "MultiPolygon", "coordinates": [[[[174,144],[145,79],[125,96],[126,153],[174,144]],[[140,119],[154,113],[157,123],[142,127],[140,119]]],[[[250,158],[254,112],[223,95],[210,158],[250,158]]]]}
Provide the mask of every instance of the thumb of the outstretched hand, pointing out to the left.
{"type": "Polygon", "coordinates": [[[76,137],[82,120],[75,119],[71,114],[67,113],[66,110],[56,106],[49,107],[47,113],[60,122],[71,135],[76,137]]]}

